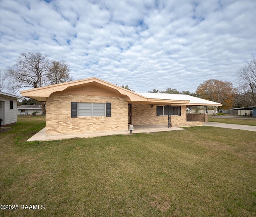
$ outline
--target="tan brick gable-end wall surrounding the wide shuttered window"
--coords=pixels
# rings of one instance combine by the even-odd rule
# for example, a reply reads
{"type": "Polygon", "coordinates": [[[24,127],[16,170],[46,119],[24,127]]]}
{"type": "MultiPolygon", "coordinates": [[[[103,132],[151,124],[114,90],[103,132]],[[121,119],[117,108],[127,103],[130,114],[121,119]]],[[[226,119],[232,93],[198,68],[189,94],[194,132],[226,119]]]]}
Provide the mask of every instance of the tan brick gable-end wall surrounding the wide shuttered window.
{"type": "Polygon", "coordinates": [[[46,110],[46,135],[128,130],[125,97],[52,94],[46,110]],[[71,118],[71,102],[111,103],[111,117],[71,118]]]}

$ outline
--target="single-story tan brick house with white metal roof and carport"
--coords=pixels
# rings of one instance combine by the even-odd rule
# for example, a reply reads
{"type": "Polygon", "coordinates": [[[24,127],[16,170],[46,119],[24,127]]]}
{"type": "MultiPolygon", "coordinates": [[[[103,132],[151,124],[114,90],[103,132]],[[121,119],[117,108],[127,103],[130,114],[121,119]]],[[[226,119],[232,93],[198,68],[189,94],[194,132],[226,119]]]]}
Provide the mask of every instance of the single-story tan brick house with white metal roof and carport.
{"type": "Polygon", "coordinates": [[[136,93],[96,77],[20,93],[46,102],[46,135],[127,131],[129,124],[169,124],[168,116],[174,127],[202,125],[207,114],[188,117],[187,106],[222,106],[188,95],[136,93]]]}

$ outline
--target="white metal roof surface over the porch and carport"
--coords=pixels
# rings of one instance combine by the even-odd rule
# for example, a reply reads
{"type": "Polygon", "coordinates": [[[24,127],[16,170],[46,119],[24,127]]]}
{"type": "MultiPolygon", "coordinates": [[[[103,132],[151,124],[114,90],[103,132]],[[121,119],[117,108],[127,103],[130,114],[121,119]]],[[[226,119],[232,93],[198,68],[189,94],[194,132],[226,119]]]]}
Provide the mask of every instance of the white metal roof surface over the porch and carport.
{"type": "Polygon", "coordinates": [[[193,97],[186,94],[171,94],[171,93],[144,93],[136,92],[144,97],[150,99],[166,99],[166,100],[184,100],[189,101],[188,105],[216,105],[222,106],[221,103],[215,103],[206,99],[201,99],[198,97],[193,97]]]}

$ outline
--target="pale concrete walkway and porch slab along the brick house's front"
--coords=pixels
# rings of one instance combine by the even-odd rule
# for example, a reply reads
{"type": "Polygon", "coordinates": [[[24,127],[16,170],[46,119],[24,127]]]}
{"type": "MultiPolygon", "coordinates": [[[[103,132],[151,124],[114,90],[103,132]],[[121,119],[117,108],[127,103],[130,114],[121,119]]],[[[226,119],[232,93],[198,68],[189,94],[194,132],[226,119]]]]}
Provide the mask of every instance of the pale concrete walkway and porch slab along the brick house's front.
{"type": "MultiPolygon", "coordinates": [[[[150,132],[163,132],[172,130],[184,130],[178,127],[168,128],[166,124],[152,124],[152,125],[135,125],[132,133],[150,133],[150,132]]],[[[46,136],[46,128],[40,130],[34,136],[30,137],[27,141],[48,141],[48,140],[62,140],[69,138],[90,138],[96,136],[109,136],[118,134],[130,134],[130,130],[125,131],[106,131],[106,132],[91,132],[91,133],[80,133],[80,134],[61,134],[46,136]]]]}

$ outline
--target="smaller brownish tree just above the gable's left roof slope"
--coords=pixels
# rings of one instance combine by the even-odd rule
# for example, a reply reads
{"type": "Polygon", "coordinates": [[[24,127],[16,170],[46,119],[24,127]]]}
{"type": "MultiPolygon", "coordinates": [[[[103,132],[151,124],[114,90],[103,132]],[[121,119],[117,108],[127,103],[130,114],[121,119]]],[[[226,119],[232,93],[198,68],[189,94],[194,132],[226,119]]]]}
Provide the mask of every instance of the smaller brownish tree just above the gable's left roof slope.
{"type": "Polygon", "coordinates": [[[66,61],[52,61],[49,67],[49,71],[46,74],[51,85],[72,81],[70,77],[69,67],[66,61]]]}

